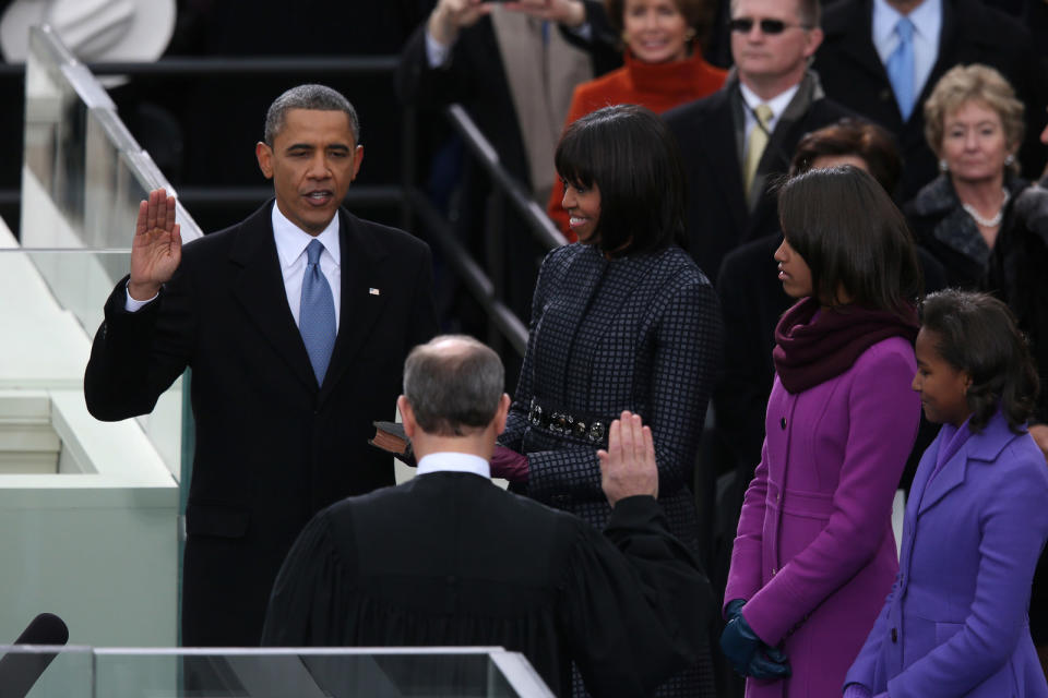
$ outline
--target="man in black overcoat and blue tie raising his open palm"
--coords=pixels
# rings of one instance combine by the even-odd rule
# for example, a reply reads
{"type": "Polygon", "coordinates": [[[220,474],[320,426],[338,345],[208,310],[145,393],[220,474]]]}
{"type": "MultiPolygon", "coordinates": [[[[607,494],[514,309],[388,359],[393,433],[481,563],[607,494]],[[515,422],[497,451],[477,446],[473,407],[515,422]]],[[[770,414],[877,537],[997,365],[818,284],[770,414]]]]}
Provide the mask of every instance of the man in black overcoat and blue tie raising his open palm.
{"type": "Polygon", "coordinates": [[[142,202],[131,273],[106,302],[84,376],[91,413],[120,420],[150,412],[192,369],[184,646],[258,645],[302,526],[393,484],[370,425],[393,417],[404,357],[437,329],[428,246],[340,207],[364,157],[345,97],[286,92],[255,154],[275,203],[184,250],[174,197],[142,202]],[[321,288],[315,305],[306,291],[321,288]]]}

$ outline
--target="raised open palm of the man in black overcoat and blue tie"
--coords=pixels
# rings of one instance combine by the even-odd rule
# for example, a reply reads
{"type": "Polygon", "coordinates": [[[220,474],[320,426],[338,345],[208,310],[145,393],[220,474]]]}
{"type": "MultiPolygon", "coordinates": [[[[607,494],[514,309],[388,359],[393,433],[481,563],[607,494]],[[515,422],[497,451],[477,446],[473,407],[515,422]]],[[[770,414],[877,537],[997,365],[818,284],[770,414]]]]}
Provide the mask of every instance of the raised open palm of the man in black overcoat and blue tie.
{"type": "Polygon", "coordinates": [[[131,280],[128,293],[145,301],[170,280],[182,260],[182,236],[175,222],[175,197],[154,189],[139,204],[139,219],[131,241],[131,280]]]}

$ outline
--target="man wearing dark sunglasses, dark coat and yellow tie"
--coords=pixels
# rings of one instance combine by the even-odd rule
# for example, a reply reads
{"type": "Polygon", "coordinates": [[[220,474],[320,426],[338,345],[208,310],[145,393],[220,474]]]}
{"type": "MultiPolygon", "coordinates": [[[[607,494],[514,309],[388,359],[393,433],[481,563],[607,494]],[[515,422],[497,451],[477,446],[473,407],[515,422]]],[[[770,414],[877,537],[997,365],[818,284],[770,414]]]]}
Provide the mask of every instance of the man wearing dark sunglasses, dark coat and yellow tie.
{"type": "Polygon", "coordinates": [[[712,280],[733,249],[778,231],[769,184],[800,137],[850,113],[808,70],[819,14],[818,0],[734,0],[724,87],[664,117],[688,172],[688,250],[712,280]]]}

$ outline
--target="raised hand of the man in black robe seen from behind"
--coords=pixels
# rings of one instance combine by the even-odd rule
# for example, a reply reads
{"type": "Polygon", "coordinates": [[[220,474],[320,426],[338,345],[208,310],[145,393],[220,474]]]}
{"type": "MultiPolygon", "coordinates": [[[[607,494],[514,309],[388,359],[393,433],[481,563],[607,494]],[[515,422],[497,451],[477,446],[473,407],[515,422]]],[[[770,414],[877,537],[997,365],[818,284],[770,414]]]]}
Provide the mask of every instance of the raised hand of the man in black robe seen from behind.
{"type": "Polygon", "coordinates": [[[652,430],[641,416],[623,411],[608,430],[608,449],[598,450],[600,486],[611,506],[638,495],[658,497],[658,466],[652,430]]]}

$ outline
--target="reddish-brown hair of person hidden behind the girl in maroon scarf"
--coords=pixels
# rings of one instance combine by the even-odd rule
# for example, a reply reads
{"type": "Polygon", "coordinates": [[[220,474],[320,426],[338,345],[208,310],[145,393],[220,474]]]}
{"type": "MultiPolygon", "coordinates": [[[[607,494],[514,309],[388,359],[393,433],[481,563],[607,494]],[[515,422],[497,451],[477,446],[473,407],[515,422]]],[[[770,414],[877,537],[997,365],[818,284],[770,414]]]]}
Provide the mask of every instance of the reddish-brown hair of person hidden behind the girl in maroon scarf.
{"type": "Polygon", "coordinates": [[[884,191],[889,194],[895,191],[903,172],[903,158],[894,136],[876,123],[850,117],[806,134],[794,152],[789,174],[807,172],[820,157],[845,155],[861,158],[884,191]]]}

